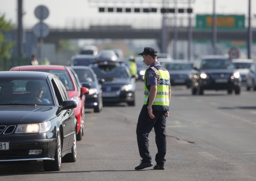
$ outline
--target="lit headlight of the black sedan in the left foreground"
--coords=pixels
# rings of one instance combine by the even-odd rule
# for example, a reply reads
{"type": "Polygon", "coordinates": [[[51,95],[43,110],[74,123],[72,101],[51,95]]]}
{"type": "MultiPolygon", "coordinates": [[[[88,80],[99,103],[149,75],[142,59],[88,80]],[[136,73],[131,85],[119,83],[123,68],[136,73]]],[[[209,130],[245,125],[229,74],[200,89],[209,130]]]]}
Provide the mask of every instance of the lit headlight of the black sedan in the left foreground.
{"type": "Polygon", "coordinates": [[[51,129],[52,125],[50,121],[44,123],[34,123],[34,124],[19,124],[15,133],[44,133],[51,129]]]}

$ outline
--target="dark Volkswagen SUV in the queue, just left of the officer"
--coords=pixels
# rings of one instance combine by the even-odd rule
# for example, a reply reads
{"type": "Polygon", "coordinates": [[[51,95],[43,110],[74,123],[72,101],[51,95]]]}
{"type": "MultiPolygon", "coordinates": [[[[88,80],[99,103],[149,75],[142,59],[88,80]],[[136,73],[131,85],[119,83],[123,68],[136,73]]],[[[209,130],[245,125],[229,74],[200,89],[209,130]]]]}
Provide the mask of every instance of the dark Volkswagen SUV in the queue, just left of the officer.
{"type": "Polygon", "coordinates": [[[135,78],[123,62],[99,61],[90,66],[101,83],[103,103],[135,105],[135,78]]]}

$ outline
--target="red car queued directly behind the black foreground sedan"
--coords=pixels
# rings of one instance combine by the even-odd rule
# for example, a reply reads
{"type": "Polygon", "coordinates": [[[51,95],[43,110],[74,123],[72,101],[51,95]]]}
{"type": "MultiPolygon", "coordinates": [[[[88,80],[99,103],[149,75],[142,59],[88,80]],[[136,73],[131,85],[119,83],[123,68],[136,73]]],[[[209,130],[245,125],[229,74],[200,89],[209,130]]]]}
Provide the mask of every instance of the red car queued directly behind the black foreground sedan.
{"type": "Polygon", "coordinates": [[[37,71],[57,75],[65,86],[68,96],[76,101],[77,107],[74,109],[77,119],[76,134],[77,140],[82,140],[82,136],[84,135],[84,101],[85,95],[89,94],[89,89],[78,87],[75,77],[67,67],[61,65],[26,65],[13,67],[10,71],[37,71]]]}

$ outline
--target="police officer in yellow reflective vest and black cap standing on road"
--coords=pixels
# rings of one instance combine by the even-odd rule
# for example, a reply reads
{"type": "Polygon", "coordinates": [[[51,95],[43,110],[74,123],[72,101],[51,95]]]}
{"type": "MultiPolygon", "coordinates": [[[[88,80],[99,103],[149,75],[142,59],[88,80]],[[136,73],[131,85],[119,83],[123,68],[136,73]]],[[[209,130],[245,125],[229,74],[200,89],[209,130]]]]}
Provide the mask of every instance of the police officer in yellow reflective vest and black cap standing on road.
{"type": "Polygon", "coordinates": [[[144,102],[136,129],[137,142],[142,158],[140,165],[135,170],[141,170],[153,166],[148,150],[148,134],[154,127],[156,134],[157,154],[155,157],[155,170],[164,170],[166,154],[166,117],[169,116],[169,102],[171,99],[169,72],[157,61],[157,51],[154,48],[145,47],[139,55],[143,56],[143,62],[150,65],[145,72],[144,102]]]}

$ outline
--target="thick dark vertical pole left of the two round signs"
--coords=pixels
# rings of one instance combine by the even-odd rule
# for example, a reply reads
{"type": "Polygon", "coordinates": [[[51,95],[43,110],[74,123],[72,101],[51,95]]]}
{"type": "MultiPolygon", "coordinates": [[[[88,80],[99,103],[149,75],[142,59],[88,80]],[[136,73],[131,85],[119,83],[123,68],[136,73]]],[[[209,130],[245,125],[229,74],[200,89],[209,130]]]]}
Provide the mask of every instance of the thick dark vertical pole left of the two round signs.
{"type": "Polygon", "coordinates": [[[18,30],[17,30],[17,50],[19,64],[21,64],[21,58],[23,57],[23,27],[22,27],[22,0],[18,0],[18,30]]]}

